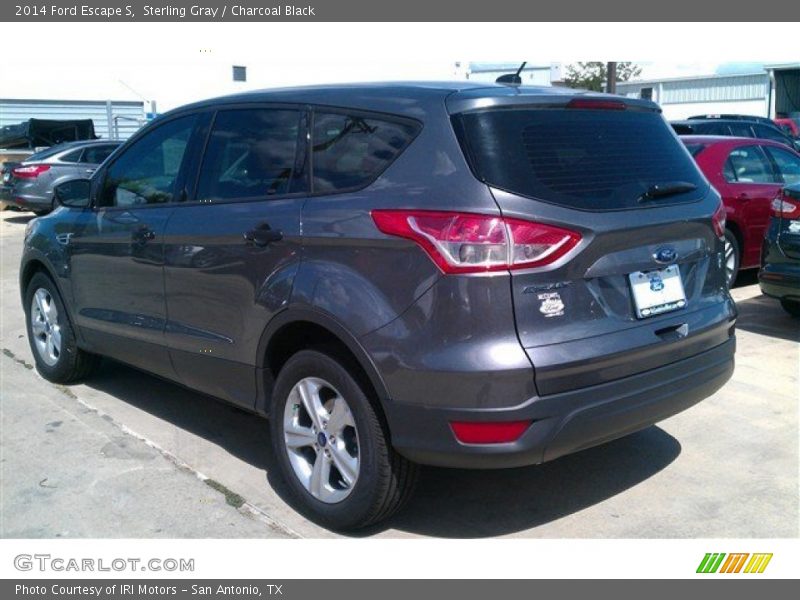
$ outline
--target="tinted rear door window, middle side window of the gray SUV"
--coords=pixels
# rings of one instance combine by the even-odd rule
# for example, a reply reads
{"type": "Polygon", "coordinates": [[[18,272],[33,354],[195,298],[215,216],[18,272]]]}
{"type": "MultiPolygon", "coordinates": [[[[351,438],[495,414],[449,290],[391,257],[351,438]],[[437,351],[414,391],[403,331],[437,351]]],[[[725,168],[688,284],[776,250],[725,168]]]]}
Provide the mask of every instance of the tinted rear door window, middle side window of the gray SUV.
{"type": "Polygon", "coordinates": [[[197,197],[213,201],[304,191],[303,179],[294,173],[299,127],[296,110],[217,113],[197,197]]]}

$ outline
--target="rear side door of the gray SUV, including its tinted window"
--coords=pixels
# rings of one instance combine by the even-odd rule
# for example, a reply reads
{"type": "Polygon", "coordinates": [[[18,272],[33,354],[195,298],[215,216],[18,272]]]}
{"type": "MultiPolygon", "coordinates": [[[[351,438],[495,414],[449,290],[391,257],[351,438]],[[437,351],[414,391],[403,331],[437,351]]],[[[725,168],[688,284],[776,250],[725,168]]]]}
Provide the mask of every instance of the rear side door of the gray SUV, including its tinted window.
{"type": "Polygon", "coordinates": [[[252,407],[261,334],[289,300],[306,196],[305,111],[216,112],[165,238],[166,337],[187,386],[252,407]]]}

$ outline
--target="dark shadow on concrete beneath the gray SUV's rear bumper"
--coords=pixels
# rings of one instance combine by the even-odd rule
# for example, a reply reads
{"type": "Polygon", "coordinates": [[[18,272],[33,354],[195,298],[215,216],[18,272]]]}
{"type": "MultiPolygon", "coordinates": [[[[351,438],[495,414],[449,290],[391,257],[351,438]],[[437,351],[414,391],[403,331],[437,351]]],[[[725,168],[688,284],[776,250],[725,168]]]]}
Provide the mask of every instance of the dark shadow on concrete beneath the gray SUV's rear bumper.
{"type": "Polygon", "coordinates": [[[634,487],[667,467],[680,452],[678,440],[654,426],[533,467],[493,471],[428,467],[408,507],[384,526],[444,538],[525,531],[634,487]]]}

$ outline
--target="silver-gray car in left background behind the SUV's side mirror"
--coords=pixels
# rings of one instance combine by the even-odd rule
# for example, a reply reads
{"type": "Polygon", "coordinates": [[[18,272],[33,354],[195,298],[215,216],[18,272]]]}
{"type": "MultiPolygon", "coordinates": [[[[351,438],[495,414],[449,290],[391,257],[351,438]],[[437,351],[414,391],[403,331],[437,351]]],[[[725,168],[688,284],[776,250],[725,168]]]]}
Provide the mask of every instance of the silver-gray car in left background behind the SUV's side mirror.
{"type": "Polygon", "coordinates": [[[122,142],[91,140],[59,144],[23,162],[5,164],[2,195],[7,204],[43,215],[53,210],[53,188],[87,178],[122,142]]]}

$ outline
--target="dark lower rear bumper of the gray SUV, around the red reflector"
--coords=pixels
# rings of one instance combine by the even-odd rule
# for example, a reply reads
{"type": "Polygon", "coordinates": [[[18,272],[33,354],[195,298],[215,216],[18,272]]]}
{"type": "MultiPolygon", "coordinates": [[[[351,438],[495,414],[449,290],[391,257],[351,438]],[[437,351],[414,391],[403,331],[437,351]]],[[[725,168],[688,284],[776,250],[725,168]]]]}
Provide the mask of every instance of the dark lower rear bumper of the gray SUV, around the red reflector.
{"type": "Polygon", "coordinates": [[[459,468],[538,464],[622,437],[681,412],[733,374],[736,339],[678,362],[612,382],[534,397],[500,409],[387,403],[392,444],[408,459],[459,468]],[[451,421],[533,421],[515,442],[462,444],[451,421]]]}

